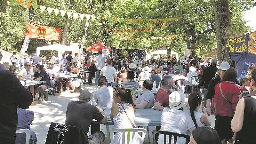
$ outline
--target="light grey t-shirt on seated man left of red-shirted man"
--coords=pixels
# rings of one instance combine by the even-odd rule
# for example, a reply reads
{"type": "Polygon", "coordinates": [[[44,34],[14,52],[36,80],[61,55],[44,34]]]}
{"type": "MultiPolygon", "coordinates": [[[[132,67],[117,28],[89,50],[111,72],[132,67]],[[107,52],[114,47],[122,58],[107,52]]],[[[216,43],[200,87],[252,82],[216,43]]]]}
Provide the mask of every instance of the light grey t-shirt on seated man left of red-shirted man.
{"type": "Polygon", "coordinates": [[[145,101],[148,101],[148,104],[146,105],[145,108],[152,108],[155,103],[154,98],[155,98],[154,93],[148,90],[144,92],[142,95],[140,95],[138,99],[134,101],[134,104],[135,105],[140,104],[141,100],[145,100],[145,101]]]}

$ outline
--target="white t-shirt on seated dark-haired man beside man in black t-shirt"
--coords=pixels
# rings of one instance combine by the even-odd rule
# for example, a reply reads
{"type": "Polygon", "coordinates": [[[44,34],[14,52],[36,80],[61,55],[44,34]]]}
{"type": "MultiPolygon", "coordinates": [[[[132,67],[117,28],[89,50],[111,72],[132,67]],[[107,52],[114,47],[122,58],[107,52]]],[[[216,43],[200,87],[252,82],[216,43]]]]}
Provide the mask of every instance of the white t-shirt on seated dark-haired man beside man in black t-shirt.
{"type": "Polygon", "coordinates": [[[111,108],[113,104],[113,91],[112,86],[103,86],[93,93],[93,98],[100,107],[111,108]]]}

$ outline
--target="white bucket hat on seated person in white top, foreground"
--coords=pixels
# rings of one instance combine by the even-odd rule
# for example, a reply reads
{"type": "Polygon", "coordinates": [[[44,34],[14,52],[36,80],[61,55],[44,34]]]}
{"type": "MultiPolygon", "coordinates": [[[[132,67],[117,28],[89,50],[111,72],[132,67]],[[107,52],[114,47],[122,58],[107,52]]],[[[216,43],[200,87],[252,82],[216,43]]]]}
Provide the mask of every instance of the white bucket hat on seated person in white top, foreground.
{"type": "Polygon", "coordinates": [[[180,91],[174,91],[169,95],[169,106],[171,109],[179,109],[185,104],[185,94],[180,91]]]}

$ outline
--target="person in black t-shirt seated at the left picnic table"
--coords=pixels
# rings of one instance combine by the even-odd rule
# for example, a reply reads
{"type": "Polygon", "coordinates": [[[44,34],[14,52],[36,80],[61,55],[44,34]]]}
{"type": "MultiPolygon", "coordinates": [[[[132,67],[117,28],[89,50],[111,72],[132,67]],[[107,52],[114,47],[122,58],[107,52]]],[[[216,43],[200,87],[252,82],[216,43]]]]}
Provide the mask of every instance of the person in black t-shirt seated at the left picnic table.
{"type": "MultiPolygon", "coordinates": [[[[43,84],[37,84],[35,86],[35,95],[37,92],[41,92],[44,89],[48,89],[50,85],[50,77],[47,75],[46,71],[43,70],[42,65],[37,64],[34,67],[34,70],[36,71],[34,76],[31,77],[32,81],[45,81],[43,84]]],[[[43,98],[44,96],[42,96],[43,98]]]]}

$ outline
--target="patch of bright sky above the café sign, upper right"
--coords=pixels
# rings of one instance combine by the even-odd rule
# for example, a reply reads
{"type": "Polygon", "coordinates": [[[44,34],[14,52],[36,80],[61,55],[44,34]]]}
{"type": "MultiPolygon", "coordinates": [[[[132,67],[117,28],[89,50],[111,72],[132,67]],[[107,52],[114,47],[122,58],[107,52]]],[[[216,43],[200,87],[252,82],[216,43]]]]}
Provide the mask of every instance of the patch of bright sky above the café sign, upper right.
{"type": "Polygon", "coordinates": [[[256,6],[252,7],[250,10],[245,11],[244,20],[249,20],[247,25],[252,28],[252,31],[256,31],[256,6]]]}

